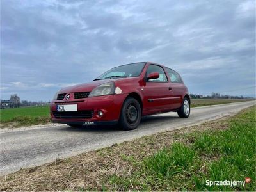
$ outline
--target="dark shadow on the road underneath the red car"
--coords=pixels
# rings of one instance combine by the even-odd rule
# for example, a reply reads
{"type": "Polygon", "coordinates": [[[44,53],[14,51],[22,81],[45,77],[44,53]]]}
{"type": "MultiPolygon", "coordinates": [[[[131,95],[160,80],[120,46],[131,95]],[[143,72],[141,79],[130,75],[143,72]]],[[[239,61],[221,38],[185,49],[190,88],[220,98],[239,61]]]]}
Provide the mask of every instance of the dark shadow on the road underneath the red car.
{"type": "MultiPolygon", "coordinates": [[[[166,115],[157,115],[157,116],[144,116],[141,118],[140,125],[138,129],[140,129],[141,126],[145,126],[147,124],[152,123],[163,123],[168,122],[170,120],[174,120],[179,118],[178,116],[166,116],[166,115]]],[[[124,131],[121,127],[118,125],[81,125],[79,127],[70,127],[67,125],[67,127],[61,127],[61,131],[71,131],[71,132],[116,132],[116,131],[124,131]]],[[[135,129],[136,130],[136,129],[135,129]]],[[[134,131],[134,130],[131,130],[134,131]]]]}

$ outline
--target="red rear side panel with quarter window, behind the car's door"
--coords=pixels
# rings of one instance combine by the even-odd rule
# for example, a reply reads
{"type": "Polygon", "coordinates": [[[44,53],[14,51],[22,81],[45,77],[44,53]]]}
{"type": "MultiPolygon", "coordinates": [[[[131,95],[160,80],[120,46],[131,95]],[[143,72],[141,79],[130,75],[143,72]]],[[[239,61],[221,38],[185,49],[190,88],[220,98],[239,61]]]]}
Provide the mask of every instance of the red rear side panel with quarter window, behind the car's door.
{"type": "Polygon", "coordinates": [[[177,109],[181,106],[182,104],[182,94],[184,93],[184,90],[186,89],[180,75],[175,72],[175,70],[172,70],[170,68],[165,67],[164,68],[170,78],[170,87],[172,88],[170,90],[171,96],[172,97],[172,109],[177,109]]]}

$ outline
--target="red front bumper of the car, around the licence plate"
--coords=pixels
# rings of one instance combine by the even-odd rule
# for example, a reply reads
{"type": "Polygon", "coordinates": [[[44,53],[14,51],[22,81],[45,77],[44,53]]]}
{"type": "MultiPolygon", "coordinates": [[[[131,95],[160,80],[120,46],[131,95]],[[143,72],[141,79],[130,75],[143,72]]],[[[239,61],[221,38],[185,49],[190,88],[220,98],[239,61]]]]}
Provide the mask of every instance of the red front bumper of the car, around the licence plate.
{"type": "MultiPolygon", "coordinates": [[[[70,95],[72,93],[69,93],[70,95]]],[[[99,97],[88,97],[83,99],[70,100],[53,100],[50,106],[52,122],[60,124],[77,124],[77,125],[113,125],[117,124],[122,104],[127,94],[104,95],[99,97]],[[54,116],[57,105],[77,104],[77,111],[92,111],[89,118],[63,118],[63,116],[54,116]],[[103,116],[98,115],[98,111],[103,111],[103,116]]],[[[65,112],[59,112],[65,113],[65,112]]]]}

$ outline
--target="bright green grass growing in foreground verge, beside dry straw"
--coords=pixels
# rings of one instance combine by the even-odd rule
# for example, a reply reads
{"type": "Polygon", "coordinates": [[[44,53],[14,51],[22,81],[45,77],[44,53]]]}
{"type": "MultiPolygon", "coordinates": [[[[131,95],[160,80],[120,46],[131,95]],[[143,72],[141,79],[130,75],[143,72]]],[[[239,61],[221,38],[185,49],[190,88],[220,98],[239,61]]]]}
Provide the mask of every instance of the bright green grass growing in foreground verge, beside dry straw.
{"type": "Polygon", "coordinates": [[[183,142],[142,159],[130,177],[111,175],[107,181],[111,190],[122,186],[129,191],[132,183],[141,191],[255,191],[255,107],[228,124],[225,130],[186,134],[183,142]],[[206,180],[244,181],[245,177],[252,182],[244,186],[206,185],[206,180]]]}

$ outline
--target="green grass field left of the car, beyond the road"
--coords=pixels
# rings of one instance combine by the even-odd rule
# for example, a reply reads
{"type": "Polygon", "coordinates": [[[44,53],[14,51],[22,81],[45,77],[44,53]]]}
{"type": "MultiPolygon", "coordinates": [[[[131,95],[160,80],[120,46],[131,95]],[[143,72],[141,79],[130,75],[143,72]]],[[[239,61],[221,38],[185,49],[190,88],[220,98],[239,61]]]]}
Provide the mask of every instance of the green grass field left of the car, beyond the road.
{"type": "Polygon", "coordinates": [[[1,127],[10,123],[13,123],[15,127],[45,124],[49,122],[49,106],[1,109],[0,120],[1,127]]]}

